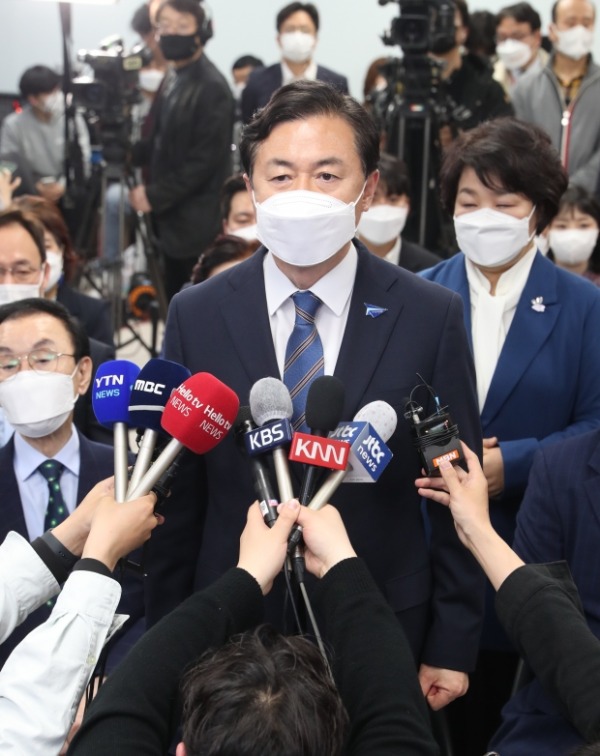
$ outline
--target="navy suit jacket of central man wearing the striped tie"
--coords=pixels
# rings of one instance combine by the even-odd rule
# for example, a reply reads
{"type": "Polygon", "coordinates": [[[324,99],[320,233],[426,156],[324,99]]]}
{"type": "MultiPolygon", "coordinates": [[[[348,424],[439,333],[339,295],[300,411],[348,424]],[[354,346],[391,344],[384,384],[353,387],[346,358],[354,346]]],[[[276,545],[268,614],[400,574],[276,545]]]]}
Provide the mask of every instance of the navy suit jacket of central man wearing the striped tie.
{"type": "MultiPolygon", "coordinates": [[[[420,465],[403,417],[419,372],[450,405],[463,437],[480,450],[462,302],[354,244],[358,270],[335,368],[346,389],[343,417],[381,399],[395,408],[398,426],[389,441],[394,459],[379,481],[342,485],[333,501],[358,554],[402,619],[416,656],[434,666],[467,670],[480,630],[482,574],[461,547],[448,510],[439,505],[430,509],[428,547],[414,486],[420,465]],[[367,303],[386,310],[368,317],[367,303]]],[[[165,356],[193,373],[213,373],[242,404],[257,380],[280,377],[266,308],[264,254],[261,248],[177,294],[167,319],[165,356]]],[[[426,392],[420,400],[432,411],[426,392]]],[[[149,547],[150,621],[237,563],[239,536],[255,498],[250,465],[228,437],[194,463],[194,470],[194,480],[192,472],[181,476],[184,490],[168,500],[166,523],[149,547]]],[[[269,618],[280,619],[280,613],[269,618]]]]}

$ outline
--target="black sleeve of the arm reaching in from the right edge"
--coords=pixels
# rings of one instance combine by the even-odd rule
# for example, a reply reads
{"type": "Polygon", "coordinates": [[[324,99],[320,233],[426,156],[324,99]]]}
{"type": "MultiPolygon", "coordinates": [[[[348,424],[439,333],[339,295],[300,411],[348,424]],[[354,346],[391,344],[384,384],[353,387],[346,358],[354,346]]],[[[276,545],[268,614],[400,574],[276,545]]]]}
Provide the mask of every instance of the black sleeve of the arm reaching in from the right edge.
{"type": "Polygon", "coordinates": [[[600,738],[600,640],[566,562],[528,564],[500,586],[496,611],[543,687],[588,742],[600,738]]]}

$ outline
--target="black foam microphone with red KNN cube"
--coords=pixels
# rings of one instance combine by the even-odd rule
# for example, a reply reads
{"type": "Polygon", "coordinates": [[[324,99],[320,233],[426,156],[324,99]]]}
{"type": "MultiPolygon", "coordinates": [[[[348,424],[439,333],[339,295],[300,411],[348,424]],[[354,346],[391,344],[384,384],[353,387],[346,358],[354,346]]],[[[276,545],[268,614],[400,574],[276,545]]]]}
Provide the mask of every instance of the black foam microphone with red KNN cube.
{"type": "Polygon", "coordinates": [[[300,504],[308,504],[313,497],[322,474],[321,467],[346,467],[347,445],[326,438],[342,419],[344,398],[344,384],[333,375],[321,375],[310,384],[305,415],[311,432],[310,435],[294,433],[289,455],[289,459],[305,464],[298,497],[300,504]]]}

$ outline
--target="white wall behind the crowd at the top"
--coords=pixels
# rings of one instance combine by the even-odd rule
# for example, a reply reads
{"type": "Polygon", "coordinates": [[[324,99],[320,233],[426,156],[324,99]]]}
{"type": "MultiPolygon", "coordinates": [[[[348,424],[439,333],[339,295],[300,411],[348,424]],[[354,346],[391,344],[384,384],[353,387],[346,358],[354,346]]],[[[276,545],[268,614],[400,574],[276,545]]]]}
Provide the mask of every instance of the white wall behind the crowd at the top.
{"type": "MultiPolygon", "coordinates": [[[[73,47],[98,47],[112,34],[121,34],[128,45],[136,39],[129,28],[134,11],[143,0],[118,0],[116,5],[73,5],[73,47]]],[[[495,12],[514,0],[470,0],[471,10],[495,12]]],[[[251,53],[265,63],[278,59],[275,16],[287,0],[207,0],[213,14],[215,36],[207,55],[230,78],[233,61],[251,53]]],[[[531,0],[547,30],[552,0],[531,0]]],[[[398,13],[395,2],[381,7],[377,0],[316,0],[321,32],[316,58],[319,63],[345,74],[351,93],[362,97],[362,81],[370,62],[395,55],[379,35],[398,13]]],[[[600,60],[600,32],[595,58],[600,60]]],[[[62,46],[58,2],[0,0],[0,92],[16,92],[21,73],[44,63],[62,70],[62,46]]]]}

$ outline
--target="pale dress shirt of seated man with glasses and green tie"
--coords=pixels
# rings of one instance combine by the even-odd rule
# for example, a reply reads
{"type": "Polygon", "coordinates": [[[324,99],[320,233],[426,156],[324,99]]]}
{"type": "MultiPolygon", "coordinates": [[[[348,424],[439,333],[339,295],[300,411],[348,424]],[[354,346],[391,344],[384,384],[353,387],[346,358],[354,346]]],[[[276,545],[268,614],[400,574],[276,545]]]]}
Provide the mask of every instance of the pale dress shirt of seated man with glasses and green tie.
{"type": "MultiPolygon", "coordinates": [[[[34,449],[19,433],[15,433],[14,469],[30,541],[44,533],[44,517],[48,507],[48,481],[37,468],[47,459],[48,457],[34,449]]],[[[74,427],[71,430],[71,438],[52,459],[65,466],[60,478],[60,490],[70,514],[77,506],[81,463],[79,436],[74,427]]]]}

